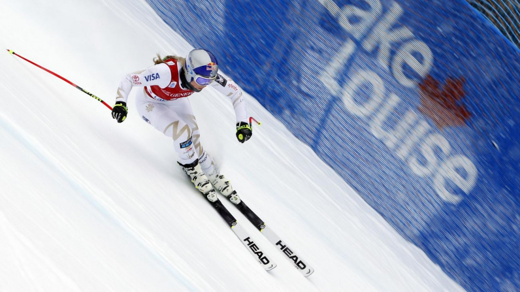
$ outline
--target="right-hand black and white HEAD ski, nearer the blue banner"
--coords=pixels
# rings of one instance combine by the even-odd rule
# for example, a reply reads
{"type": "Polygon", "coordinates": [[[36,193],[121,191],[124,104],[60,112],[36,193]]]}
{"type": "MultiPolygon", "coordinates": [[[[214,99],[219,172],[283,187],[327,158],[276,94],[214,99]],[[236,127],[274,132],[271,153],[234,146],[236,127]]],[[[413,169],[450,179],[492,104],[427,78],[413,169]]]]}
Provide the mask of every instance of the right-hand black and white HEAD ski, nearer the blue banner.
{"type": "Polygon", "coordinates": [[[228,200],[237,207],[240,212],[248,218],[248,220],[260,231],[264,236],[267,238],[267,240],[275,245],[280,252],[291,261],[293,266],[300,271],[304,276],[308,277],[312,273],[314,273],[313,267],[311,267],[307,261],[303,260],[300,254],[297,254],[294,249],[288,246],[286,242],[284,242],[280,236],[278,236],[272,229],[267,227],[265,222],[260,219],[249,207],[244,203],[244,201],[239,198],[236,199],[237,192],[233,191],[229,196],[227,196],[228,200]],[[233,198],[235,197],[235,198],[233,198]],[[233,200],[232,200],[233,199],[233,200]]]}

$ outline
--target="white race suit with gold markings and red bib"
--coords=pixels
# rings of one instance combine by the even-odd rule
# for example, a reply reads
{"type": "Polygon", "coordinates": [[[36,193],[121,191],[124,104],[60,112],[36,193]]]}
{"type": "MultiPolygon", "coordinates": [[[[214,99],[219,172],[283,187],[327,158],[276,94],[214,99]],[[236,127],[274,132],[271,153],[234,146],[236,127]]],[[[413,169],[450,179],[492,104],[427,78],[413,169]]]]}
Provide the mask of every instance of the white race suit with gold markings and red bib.
{"type": "MultiPolygon", "coordinates": [[[[183,61],[168,59],[146,70],[127,74],[119,85],[116,101],[126,102],[133,87],[144,87],[136,95],[136,109],[141,118],[173,138],[179,163],[190,164],[198,158],[202,171],[210,175],[217,169],[200,143],[197,120],[187,98],[194,91],[181,84],[182,67],[183,61]]],[[[237,123],[248,122],[242,89],[232,79],[217,74],[208,86],[229,98],[237,123]]]]}

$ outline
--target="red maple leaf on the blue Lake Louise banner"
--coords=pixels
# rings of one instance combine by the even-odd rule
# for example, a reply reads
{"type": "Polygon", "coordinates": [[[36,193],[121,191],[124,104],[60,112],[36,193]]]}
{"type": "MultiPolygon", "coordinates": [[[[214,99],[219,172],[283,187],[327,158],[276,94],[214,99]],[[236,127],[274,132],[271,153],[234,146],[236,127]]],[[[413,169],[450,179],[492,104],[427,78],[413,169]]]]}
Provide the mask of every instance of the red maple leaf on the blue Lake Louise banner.
{"type": "Polygon", "coordinates": [[[445,127],[463,126],[471,113],[462,103],[465,96],[463,85],[464,77],[459,79],[448,78],[446,84],[439,88],[440,82],[431,75],[426,76],[419,84],[421,106],[419,111],[432,119],[439,129],[445,127]]]}

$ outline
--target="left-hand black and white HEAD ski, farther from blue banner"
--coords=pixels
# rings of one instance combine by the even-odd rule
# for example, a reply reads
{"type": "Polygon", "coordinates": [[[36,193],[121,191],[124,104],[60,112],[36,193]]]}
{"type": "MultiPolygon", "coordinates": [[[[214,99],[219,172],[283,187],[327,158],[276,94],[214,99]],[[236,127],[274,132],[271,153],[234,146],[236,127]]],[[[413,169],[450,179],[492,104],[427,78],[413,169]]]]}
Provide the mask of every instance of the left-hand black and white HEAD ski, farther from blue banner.
{"type": "Polygon", "coordinates": [[[264,249],[256,243],[248,232],[239,225],[235,217],[229,210],[218,200],[215,191],[212,190],[206,195],[207,200],[217,210],[217,213],[226,221],[233,233],[237,235],[242,244],[249,250],[251,255],[258,261],[266,271],[276,268],[276,263],[267,256],[264,249]]]}

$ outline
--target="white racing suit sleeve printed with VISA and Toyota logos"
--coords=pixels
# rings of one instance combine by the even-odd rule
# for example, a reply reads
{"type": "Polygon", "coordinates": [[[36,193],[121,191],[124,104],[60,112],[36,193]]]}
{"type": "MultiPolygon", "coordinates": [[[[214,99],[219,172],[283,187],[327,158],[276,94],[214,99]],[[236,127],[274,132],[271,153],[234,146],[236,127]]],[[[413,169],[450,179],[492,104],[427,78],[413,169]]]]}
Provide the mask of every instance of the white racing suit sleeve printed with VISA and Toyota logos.
{"type": "Polygon", "coordinates": [[[137,71],[134,73],[126,74],[121,80],[118,87],[118,93],[115,101],[126,102],[130,90],[132,87],[144,87],[151,85],[158,85],[161,88],[165,88],[170,85],[172,79],[172,72],[165,63],[153,65],[146,70],[137,71]]]}

